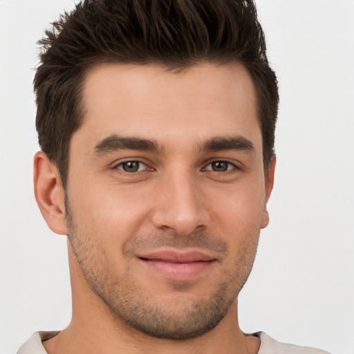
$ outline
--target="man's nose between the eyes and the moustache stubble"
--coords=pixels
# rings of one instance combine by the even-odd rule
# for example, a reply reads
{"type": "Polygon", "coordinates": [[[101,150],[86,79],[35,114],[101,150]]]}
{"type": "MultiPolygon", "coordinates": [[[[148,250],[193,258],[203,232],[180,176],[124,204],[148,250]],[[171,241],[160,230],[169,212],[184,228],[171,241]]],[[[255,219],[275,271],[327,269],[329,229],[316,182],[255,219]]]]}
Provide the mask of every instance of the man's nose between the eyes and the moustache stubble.
{"type": "Polygon", "coordinates": [[[153,203],[153,225],[180,235],[204,230],[209,223],[209,213],[198,178],[181,171],[159,182],[153,203]]]}

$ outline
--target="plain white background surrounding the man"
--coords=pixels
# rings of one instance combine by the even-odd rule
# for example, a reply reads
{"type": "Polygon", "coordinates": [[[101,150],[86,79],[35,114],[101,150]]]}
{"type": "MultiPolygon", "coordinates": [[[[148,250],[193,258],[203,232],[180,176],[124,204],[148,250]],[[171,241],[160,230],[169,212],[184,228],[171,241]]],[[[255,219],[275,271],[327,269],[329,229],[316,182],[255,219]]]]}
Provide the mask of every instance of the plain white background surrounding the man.
{"type": "MultiPolygon", "coordinates": [[[[281,94],[277,174],[241,328],[354,353],[354,1],[258,0],[281,94]]],[[[32,194],[36,41],[71,0],[0,0],[0,354],[71,318],[66,240],[32,194]]]]}

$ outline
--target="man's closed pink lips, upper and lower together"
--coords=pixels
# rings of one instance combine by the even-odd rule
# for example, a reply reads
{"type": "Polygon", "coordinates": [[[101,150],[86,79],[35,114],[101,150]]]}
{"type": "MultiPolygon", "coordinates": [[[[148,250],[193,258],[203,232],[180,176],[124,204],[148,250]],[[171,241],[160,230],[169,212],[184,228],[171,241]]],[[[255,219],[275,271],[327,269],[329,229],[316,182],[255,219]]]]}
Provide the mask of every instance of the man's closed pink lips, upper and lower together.
{"type": "Polygon", "coordinates": [[[138,256],[153,272],[168,279],[191,280],[210,270],[216,258],[197,250],[159,250],[138,256]]]}

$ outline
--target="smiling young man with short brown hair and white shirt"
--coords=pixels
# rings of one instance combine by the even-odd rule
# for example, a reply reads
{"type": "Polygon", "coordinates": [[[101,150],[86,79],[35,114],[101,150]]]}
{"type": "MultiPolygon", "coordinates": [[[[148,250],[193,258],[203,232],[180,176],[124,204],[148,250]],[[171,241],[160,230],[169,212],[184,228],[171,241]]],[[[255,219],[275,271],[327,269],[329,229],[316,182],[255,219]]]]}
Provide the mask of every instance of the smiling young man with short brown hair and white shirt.
{"type": "Polygon", "coordinates": [[[41,44],[35,196],[73,318],[18,353],[324,353],[238,324],[275,168],[254,3],[85,1],[41,44]]]}

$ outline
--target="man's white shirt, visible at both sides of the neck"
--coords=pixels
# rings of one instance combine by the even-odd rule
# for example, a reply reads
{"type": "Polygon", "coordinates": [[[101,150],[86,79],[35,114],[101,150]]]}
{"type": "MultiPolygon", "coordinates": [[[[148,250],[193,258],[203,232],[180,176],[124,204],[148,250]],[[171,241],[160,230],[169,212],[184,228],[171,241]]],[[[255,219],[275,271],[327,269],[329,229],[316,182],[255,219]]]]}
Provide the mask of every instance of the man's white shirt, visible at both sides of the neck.
{"type": "MultiPolygon", "coordinates": [[[[36,332],[25,342],[17,354],[48,354],[41,344],[43,340],[50,339],[59,332],[36,332]]],[[[295,346],[294,344],[279,343],[264,332],[254,333],[261,339],[261,347],[258,354],[329,354],[307,346],[295,346]]]]}

